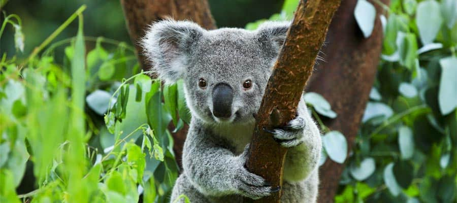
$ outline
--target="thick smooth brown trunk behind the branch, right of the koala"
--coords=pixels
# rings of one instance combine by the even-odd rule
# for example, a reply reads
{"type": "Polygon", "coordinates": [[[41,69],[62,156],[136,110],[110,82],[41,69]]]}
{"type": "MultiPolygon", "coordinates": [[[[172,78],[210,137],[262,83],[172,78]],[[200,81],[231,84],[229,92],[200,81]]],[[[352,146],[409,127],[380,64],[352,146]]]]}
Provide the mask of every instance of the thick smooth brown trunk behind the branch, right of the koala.
{"type": "MultiPolygon", "coordinates": [[[[388,4],[388,0],[382,0],[388,4]]],[[[338,114],[335,119],[323,122],[332,130],[342,132],[352,149],[358,126],[364,114],[368,95],[376,76],[382,48],[382,26],[377,15],[372,35],[365,39],[354,19],[357,0],[345,0],[335,14],[322,52],[326,62],[316,66],[307,91],[322,94],[338,114]]],[[[378,14],[383,13],[373,4],[378,14]]],[[[323,117],[322,117],[323,118],[323,117]]],[[[338,190],[344,164],[330,159],[320,170],[318,202],[333,202],[338,190]]]]}

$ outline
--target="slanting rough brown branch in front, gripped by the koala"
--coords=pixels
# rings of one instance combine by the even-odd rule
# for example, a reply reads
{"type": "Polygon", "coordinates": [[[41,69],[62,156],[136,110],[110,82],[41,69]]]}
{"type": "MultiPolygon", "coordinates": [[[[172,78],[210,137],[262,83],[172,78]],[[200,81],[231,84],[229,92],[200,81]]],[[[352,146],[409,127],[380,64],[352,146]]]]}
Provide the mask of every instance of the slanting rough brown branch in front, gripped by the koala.
{"type": "MultiPolygon", "coordinates": [[[[282,187],[287,150],[263,129],[284,125],[295,118],[305,84],[340,3],[341,0],[300,1],[268,81],[256,117],[246,167],[273,186],[282,187]]],[[[280,202],[281,192],[258,200],[245,198],[244,202],[280,202]]]]}

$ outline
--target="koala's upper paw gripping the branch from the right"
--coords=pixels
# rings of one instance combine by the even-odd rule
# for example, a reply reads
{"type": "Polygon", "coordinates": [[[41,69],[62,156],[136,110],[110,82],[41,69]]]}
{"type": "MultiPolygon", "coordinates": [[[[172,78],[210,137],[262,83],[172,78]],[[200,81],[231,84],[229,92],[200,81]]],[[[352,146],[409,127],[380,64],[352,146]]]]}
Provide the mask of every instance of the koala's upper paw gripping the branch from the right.
{"type": "Polygon", "coordinates": [[[287,123],[286,126],[275,128],[273,130],[264,129],[272,133],[276,142],[283,147],[295,147],[303,143],[303,129],[306,126],[306,121],[302,117],[297,117],[287,123]]]}

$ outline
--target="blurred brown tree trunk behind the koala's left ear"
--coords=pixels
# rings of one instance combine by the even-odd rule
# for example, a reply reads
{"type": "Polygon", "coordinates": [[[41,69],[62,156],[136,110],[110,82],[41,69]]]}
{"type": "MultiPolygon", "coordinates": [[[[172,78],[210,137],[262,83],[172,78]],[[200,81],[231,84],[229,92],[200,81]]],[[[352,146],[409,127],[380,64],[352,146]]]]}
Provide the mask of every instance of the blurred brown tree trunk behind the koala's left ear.
{"type": "MultiPolygon", "coordinates": [[[[138,62],[143,70],[150,68],[143,56],[139,41],[145,35],[146,27],[157,20],[172,17],[175,20],[191,20],[206,29],[215,29],[213,17],[206,0],[120,0],[124,11],[130,39],[137,50],[138,62]]],[[[175,127],[169,126],[170,131],[175,127]]],[[[186,139],[188,126],[173,133],[176,161],[181,165],[182,147],[186,139]]]]}

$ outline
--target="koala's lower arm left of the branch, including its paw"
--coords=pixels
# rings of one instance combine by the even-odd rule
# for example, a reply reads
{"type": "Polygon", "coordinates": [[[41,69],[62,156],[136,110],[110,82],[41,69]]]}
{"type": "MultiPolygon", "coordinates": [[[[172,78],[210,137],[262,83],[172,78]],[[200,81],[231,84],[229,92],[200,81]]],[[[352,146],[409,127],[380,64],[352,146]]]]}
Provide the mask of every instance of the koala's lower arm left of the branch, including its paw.
{"type": "MultiPolygon", "coordinates": [[[[192,124],[191,124],[192,125],[192,124]]],[[[267,196],[271,186],[244,167],[247,148],[241,155],[216,145],[205,130],[191,127],[183,149],[184,174],[202,194],[241,194],[251,198],[267,196]]]]}

